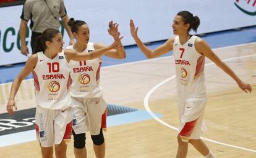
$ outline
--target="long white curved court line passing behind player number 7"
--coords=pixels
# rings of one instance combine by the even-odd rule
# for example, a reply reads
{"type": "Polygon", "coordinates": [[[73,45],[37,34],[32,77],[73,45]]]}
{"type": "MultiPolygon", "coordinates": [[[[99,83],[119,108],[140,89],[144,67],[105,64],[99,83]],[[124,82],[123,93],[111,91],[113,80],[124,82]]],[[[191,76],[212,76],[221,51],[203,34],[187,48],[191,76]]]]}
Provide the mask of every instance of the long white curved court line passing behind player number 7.
{"type": "MultiPolygon", "coordinates": [[[[256,56],[256,54],[253,54],[253,55],[245,55],[245,56],[242,56],[242,57],[234,57],[234,58],[228,58],[228,59],[225,59],[223,61],[229,61],[229,60],[235,60],[235,59],[238,59],[238,58],[248,58],[248,57],[254,57],[256,56]]],[[[209,66],[209,65],[213,65],[214,63],[208,63],[206,64],[205,66],[209,66]]],[[[158,118],[152,111],[151,109],[149,108],[149,105],[148,105],[148,100],[150,98],[150,95],[156,90],[158,89],[159,87],[161,87],[161,85],[165,84],[166,82],[168,81],[171,81],[173,80],[174,78],[176,77],[176,75],[172,76],[172,77],[169,77],[168,79],[165,79],[164,81],[160,82],[159,84],[155,85],[155,87],[153,87],[150,91],[148,91],[147,95],[145,96],[144,98],[144,107],[145,109],[147,110],[148,114],[150,114],[156,121],[160,122],[160,124],[163,124],[165,125],[166,127],[169,127],[173,130],[178,130],[178,128],[174,127],[173,125],[170,125],[166,122],[164,122],[163,120],[161,120],[160,118],[158,118]]],[[[237,148],[237,149],[242,149],[242,150],[245,150],[245,151],[250,151],[250,152],[256,152],[256,150],[253,150],[253,149],[248,149],[248,148],[242,148],[240,146],[234,146],[234,145],[231,145],[231,144],[226,144],[226,143],[221,143],[220,141],[215,141],[215,140],[210,140],[208,138],[203,138],[203,137],[200,137],[202,140],[206,140],[206,141],[210,141],[212,143],[216,143],[216,144],[221,144],[223,146],[229,146],[231,148],[237,148]]]]}

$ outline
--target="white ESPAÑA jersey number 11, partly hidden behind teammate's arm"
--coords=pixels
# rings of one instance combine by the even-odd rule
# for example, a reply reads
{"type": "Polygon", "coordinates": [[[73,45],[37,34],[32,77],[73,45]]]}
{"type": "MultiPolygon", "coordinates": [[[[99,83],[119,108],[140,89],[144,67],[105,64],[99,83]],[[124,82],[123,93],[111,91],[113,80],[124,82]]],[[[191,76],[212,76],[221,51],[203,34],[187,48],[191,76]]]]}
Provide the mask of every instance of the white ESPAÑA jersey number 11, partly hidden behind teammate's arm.
{"type": "MultiPolygon", "coordinates": [[[[74,49],[70,45],[67,49],[74,49]]],[[[82,53],[89,53],[94,50],[93,42],[88,42],[87,48],[82,53]]],[[[70,60],[72,68],[72,85],[70,95],[80,98],[101,98],[103,97],[102,87],[100,86],[100,68],[102,60],[95,58],[86,61],[70,60]]]]}

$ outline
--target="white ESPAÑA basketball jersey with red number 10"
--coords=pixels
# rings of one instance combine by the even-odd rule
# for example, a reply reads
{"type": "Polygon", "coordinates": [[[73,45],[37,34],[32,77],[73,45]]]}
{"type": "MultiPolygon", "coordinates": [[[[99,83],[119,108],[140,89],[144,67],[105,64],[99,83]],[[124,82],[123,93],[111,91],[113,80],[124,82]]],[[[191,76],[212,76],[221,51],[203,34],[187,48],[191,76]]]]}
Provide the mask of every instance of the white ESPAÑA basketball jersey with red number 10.
{"type": "Polygon", "coordinates": [[[69,87],[72,84],[70,65],[64,52],[50,59],[43,52],[37,53],[38,60],[33,69],[36,104],[46,109],[67,109],[71,106],[69,87]]]}

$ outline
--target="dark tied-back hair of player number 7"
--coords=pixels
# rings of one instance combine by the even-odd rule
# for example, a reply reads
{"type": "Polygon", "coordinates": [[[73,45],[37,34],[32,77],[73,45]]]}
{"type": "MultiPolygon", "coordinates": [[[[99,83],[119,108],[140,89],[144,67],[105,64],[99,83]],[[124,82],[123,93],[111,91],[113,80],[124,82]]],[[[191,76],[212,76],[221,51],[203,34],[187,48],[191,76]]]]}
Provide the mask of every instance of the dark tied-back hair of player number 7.
{"type": "Polygon", "coordinates": [[[197,32],[197,28],[200,25],[200,19],[197,16],[193,16],[193,14],[189,11],[181,11],[178,12],[177,15],[182,17],[182,20],[185,24],[190,24],[189,30],[187,31],[190,31],[190,29],[192,29],[197,32]]]}

